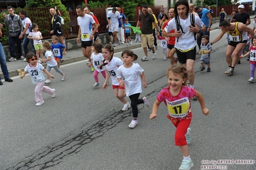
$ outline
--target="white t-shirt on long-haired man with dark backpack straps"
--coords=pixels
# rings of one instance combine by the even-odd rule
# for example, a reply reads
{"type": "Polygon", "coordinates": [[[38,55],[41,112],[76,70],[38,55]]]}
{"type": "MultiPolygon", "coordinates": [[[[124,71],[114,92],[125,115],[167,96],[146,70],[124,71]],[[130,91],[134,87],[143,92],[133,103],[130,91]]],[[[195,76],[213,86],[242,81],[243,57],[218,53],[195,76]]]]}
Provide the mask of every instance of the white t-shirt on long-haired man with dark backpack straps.
{"type": "MultiPolygon", "coordinates": [[[[180,16],[178,16],[180,18],[180,16]]],[[[175,40],[175,48],[181,49],[181,50],[188,50],[196,46],[196,40],[194,40],[194,33],[189,31],[189,26],[191,26],[190,21],[191,14],[189,13],[189,17],[186,20],[183,20],[180,18],[180,26],[183,29],[183,34],[175,40]]],[[[200,17],[194,15],[194,24],[196,24],[199,28],[203,27],[203,22],[201,22],[200,17]]],[[[169,33],[172,29],[176,29],[176,22],[175,19],[169,20],[166,27],[164,28],[164,31],[166,33],[169,33]]],[[[180,30],[181,31],[181,30],[180,30]]]]}

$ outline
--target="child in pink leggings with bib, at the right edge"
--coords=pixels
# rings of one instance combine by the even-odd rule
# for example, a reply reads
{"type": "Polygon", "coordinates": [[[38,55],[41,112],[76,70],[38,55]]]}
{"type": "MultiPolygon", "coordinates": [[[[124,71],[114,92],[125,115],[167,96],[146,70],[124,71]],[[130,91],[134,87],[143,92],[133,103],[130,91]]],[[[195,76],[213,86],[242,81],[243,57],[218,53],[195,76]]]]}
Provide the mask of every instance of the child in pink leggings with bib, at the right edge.
{"type": "Polygon", "coordinates": [[[245,58],[250,54],[250,79],[248,82],[254,82],[254,72],[256,67],[256,36],[252,38],[252,46],[250,47],[250,50],[244,54],[243,56],[240,56],[240,58],[245,58]]]}

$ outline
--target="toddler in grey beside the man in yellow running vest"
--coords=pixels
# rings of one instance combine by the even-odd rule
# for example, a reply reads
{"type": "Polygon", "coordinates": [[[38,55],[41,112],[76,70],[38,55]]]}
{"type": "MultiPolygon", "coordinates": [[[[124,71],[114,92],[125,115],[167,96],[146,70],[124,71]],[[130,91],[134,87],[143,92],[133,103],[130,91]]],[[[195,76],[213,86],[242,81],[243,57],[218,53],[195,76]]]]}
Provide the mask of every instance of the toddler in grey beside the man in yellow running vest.
{"type": "Polygon", "coordinates": [[[210,43],[209,43],[209,36],[203,35],[201,38],[200,51],[198,52],[198,54],[201,54],[200,71],[205,70],[205,65],[207,65],[207,72],[210,72],[210,52],[211,51],[212,51],[212,46],[210,46],[210,43]]]}

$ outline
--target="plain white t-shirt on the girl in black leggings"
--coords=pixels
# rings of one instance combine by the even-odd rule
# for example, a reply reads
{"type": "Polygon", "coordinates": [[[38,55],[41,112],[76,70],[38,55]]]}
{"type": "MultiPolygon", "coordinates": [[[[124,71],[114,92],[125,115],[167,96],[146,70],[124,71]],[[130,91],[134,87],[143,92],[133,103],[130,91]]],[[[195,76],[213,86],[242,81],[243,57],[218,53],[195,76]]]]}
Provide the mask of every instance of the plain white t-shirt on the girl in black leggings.
{"type": "Polygon", "coordinates": [[[121,65],[117,69],[117,78],[123,79],[127,97],[142,92],[141,75],[143,72],[143,68],[138,63],[133,63],[130,68],[121,65]]]}

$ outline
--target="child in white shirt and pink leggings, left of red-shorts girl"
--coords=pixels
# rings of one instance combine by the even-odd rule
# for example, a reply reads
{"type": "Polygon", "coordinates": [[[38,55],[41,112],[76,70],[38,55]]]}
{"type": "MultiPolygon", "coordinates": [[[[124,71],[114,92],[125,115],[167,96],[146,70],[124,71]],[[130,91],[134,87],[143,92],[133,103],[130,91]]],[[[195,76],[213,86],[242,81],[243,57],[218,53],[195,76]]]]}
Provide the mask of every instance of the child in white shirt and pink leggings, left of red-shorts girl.
{"type": "Polygon", "coordinates": [[[99,86],[99,79],[98,79],[99,73],[101,73],[104,79],[106,79],[105,67],[103,67],[102,69],[99,68],[102,64],[102,61],[104,60],[101,54],[101,49],[102,49],[101,43],[98,43],[98,42],[92,43],[92,55],[90,56],[90,64],[88,66],[89,68],[91,66],[94,67],[93,76],[94,76],[95,84],[92,86],[94,88],[99,86]]]}

